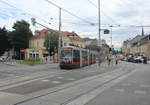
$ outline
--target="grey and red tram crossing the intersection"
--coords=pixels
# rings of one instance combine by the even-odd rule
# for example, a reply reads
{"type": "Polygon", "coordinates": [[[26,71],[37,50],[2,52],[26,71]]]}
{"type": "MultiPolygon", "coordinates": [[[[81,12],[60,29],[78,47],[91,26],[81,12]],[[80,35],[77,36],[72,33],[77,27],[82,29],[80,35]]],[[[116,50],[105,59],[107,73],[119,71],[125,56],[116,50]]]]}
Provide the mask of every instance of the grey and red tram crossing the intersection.
{"type": "Polygon", "coordinates": [[[75,46],[65,46],[61,49],[60,69],[73,69],[96,63],[97,51],[75,46]]]}

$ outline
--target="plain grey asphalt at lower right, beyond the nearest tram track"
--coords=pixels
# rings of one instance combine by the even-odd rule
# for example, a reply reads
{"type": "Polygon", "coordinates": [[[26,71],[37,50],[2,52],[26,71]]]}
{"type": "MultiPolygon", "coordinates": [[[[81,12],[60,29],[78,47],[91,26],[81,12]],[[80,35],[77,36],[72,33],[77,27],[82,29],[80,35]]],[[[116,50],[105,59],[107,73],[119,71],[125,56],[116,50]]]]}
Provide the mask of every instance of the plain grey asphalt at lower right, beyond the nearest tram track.
{"type": "Polygon", "coordinates": [[[138,65],[133,75],[85,105],[150,105],[150,65],[138,65]]]}

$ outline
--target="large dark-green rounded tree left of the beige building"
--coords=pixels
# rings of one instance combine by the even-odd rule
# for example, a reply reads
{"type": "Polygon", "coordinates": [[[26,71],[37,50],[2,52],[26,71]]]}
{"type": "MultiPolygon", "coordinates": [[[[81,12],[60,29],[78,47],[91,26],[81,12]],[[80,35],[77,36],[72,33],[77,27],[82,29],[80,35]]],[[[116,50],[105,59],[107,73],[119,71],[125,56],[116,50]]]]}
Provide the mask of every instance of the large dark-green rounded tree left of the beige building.
{"type": "Polygon", "coordinates": [[[9,33],[11,44],[17,54],[20,54],[20,49],[29,48],[29,40],[32,37],[30,24],[25,20],[17,21],[13,29],[14,31],[9,33]]]}

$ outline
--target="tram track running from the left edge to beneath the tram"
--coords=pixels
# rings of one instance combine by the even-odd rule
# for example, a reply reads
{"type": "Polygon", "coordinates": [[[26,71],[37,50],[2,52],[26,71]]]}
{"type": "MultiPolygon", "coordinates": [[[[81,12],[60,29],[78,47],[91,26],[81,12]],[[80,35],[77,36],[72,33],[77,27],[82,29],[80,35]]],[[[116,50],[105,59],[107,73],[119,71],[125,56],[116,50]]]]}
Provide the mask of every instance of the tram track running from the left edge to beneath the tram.
{"type": "MultiPolygon", "coordinates": [[[[91,66],[84,67],[84,68],[91,68],[91,66]]],[[[57,71],[57,72],[47,72],[46,71],[44,74],[36,75],[36,76],[33,76],[34,73],[32,75],[21,75],[19,77],[12,78],[11,81],[10,81],[10,79],[6,79],[6,80],[0,82],[0,91],[4,90],[4,89],[12,88],[12,87],[20,86],[23,84],[31,83],[31,82],[34,82],[37,80],[42,80],[45,78],[53,78],[53,77],[56,77],[61,74],[72,72],[72,70],[60,70],[60,69],[56,69],[56,70],[59,70],[59,71],[57,71]]],[[[75,71],[78,71],[78,70],[82,70],[82,68],[76,69],[75,71]]]]}

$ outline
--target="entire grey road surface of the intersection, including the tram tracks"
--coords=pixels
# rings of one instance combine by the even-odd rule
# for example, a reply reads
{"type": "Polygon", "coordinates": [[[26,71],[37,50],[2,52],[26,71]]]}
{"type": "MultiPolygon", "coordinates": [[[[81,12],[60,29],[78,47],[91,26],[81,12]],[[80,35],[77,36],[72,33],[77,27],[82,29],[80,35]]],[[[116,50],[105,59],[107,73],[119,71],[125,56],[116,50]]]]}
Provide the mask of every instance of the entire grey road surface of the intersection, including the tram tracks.
{"type": "MultiPolygon", "coordinates": [[[[7,68],[9,75],[16,76],[18,73],[19,76],[13,83],[11,78],[5,77],[10,84],[0,86],[0,104],[150,105],[149,68],[150,65],[126,62],[110,67],[103,64],[101,67],[92,65],[74,70],[59,70],[57,65],[23,69],[17,66],[12,72],[7,68]],[[26,80],[21,81],[21,78],[26,80]],[[15,82],[19,79],[20,82],[15,82]]],[[[0,72],[4,71],[0,69],[0,72]]]]}

